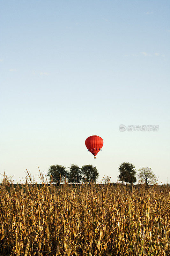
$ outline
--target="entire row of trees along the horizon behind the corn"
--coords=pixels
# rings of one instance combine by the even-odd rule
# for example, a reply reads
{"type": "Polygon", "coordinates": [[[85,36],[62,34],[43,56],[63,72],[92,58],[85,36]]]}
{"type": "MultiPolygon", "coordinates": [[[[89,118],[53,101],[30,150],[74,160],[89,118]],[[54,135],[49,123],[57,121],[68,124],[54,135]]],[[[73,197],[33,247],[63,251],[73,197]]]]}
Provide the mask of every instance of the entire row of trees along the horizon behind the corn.
{"type": "MultiPolygon", "coordinates": [[[[99,178],[99,172],[96,166],[92,166],[91,164],[86,164],[81,168],[76,164],[71,164],[68,167],[69,170],[62,165],[51,165],[47,176],[50,178],[50,182],[54,182],[59,185],[61,182],[68,182],[68,183],[96,183],[96,180],[99,178]]],[[[129,184],[135,183],[137,178],[139,183],[143,184],[154,184],[156,182],[156,175],[152,172],[151,168],[141,168],[138,171],[135,170],[135,166],[131,163],[122,163],[119,165],[118,168],[118,180],[129,184]]],[[[108,183],[110,181],[108,175],[104,178],[104,182],[108,183]]]]}

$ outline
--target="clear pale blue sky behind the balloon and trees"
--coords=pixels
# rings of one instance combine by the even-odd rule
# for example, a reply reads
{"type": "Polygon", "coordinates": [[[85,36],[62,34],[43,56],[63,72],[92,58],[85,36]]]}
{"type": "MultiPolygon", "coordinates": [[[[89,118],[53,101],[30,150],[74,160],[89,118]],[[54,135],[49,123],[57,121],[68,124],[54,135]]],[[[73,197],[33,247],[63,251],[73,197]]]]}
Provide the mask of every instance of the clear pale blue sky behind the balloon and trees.
{"type": "Polygon", "coordinates": [[[99,182],[115,182],[130,162],[170,181],[170,1],[1,0],[0,9],[0,173],[19,182],[27,169],[39,182],[38,166],[93,164],[99,182]],[[90,135],[104,140],[96,159],[90,135]]]}

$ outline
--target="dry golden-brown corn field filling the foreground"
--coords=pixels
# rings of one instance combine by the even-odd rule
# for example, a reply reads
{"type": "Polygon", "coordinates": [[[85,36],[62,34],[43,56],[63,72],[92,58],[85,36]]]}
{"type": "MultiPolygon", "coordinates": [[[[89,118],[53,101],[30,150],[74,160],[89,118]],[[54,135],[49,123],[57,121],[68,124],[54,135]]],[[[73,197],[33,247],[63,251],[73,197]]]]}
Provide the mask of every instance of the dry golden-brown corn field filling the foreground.
{"type": "Polygon", "coordinates": [[[0,184],[0,255],[170,255],[170,188],[0,184]]]}

